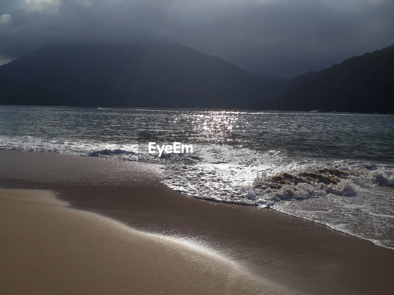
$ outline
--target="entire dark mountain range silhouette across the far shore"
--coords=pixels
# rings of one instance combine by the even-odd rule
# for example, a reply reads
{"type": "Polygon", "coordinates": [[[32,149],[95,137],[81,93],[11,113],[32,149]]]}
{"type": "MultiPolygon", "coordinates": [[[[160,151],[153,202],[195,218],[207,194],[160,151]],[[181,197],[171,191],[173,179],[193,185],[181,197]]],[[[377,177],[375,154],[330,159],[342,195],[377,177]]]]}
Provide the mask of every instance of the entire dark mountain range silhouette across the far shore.
{"type": "Polygon", "coordinates": [[[177,44],[52,44],[0,66],[0,104],[394,112],[394,46],[293,79],[177,44]]]}

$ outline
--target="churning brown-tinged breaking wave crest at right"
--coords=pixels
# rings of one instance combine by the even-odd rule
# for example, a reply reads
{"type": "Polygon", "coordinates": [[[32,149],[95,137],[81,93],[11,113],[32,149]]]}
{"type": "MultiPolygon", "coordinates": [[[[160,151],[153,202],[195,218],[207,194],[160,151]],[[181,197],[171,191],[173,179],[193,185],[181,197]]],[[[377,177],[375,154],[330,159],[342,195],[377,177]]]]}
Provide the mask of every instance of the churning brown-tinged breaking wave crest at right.
{"type": "Polygon", "coordinates": [[[328,194],[354,196],[360,187],[394,186],[392,168],[371,164],[374,168],[368,169],[366,163],[357,164],[352,170],[348,166],[331,164],[324,168],[307,167],[297,173],[258,175],[249,198],[260,207],[271,207],[281,200],[318,198],[328,194]]]}

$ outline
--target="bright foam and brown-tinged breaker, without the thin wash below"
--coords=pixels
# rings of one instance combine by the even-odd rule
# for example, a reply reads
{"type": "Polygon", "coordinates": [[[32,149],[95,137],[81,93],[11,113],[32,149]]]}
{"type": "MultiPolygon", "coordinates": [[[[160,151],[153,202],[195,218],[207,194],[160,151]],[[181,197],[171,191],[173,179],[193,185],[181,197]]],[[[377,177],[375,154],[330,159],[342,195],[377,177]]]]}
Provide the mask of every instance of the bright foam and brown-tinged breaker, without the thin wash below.
{"type": "MultiPolygon", "coordinates": [[[[229,149],[225,149],[225,154],[229,149]]],[[[260,153],[260,159],[253,157],[250,163],[248,159],[253,152],[248,153],[236,155],[238,160],[220,161],[215,157],[215,162],[220,164],[212,164],[212,159],[204,162],[193,161],[188,155],[174,156],[164,173],[165,183],[194,197],[262,208],[283,200],[329,194],[354,196],[366,186],[394,186],[390,165],[337,161],[310,166],[311,160],[290,159],[279,151],[260,153]],[[266,167],[265,171],[262,167],[266,167]]]]}

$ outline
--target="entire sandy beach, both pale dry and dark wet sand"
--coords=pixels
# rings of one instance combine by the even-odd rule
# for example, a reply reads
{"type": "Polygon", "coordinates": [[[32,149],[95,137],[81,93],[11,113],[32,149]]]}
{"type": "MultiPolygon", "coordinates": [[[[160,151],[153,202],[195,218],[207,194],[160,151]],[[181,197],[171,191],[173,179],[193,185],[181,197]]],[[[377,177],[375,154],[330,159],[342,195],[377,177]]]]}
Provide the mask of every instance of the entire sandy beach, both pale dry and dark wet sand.
{"type": "Polygon", "coordinates": [[[394,251],[182,195],[159,174],[141,162],[0,151],[5,294],[392,294],[394,251]]]}

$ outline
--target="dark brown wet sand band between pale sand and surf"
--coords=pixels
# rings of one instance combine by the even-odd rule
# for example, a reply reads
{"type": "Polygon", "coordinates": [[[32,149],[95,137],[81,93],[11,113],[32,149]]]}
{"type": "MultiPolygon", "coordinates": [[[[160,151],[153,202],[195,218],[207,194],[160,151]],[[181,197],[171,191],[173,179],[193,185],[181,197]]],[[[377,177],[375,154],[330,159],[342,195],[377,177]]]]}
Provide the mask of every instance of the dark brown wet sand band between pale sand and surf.
{"type": "Polygon", "coordinates": [[[53,190],[70,208],[214,249],[253,274],[245,276],[303,293],[392,294],[394,251],[274,210],[182,195],[159,173],[144,163],[0,151],[0,187],[53,190]]]}

